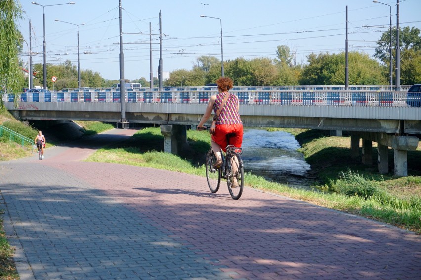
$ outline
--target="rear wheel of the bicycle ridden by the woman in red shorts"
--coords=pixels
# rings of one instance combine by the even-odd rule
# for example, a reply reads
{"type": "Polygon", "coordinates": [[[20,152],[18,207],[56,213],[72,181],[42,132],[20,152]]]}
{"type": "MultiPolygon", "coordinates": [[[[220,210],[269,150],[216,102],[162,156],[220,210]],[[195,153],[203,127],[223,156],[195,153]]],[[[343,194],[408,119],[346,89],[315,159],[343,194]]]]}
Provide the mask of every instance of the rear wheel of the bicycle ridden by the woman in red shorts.
{"type": "Polygon", "coordinates": [[[241,197],[241,194],[243,193],[243,188],[244,188],[243,160],[241,159],[240,155],[235,154],[232,156],[232,159],[227,160],[227,161],[229,164],[228,176],[227,176],[228,191],[233,199],[238,200],[241,197]],[[235,166],[233,166],[234,164],[235,166]],[[235,174],[232,171],[233,169],[234,170],[237,169],[237,172],[235,174]]]}

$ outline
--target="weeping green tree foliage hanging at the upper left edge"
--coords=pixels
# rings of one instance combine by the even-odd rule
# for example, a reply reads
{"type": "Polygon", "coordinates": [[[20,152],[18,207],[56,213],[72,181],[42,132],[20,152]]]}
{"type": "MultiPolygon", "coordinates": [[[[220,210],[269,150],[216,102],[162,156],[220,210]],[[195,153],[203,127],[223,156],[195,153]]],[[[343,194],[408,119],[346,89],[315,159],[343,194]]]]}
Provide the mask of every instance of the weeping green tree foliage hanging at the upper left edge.
{"type": "MultiPolygon", "coordinates": [[[[19,68],[21,33],[16,22],[22,18],[22,8],[17,1],[0,0],[0,91],[20,92],[22,75],[19,68]]],[[[2,107],[2,98],[0,98],[2,107]]]]}

